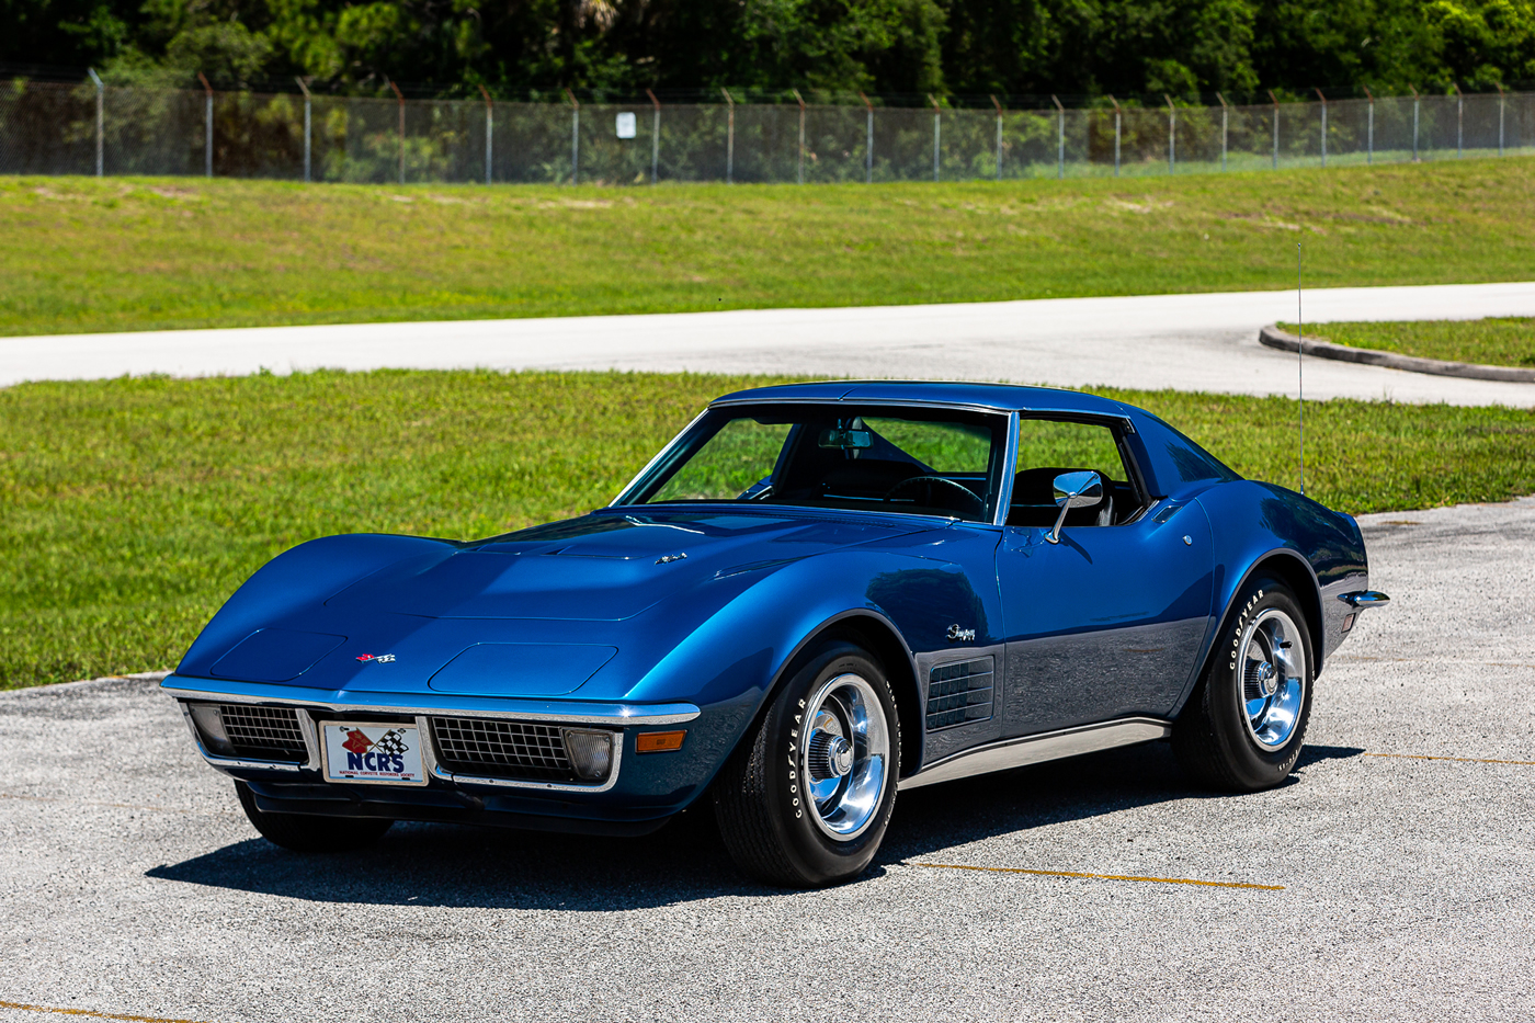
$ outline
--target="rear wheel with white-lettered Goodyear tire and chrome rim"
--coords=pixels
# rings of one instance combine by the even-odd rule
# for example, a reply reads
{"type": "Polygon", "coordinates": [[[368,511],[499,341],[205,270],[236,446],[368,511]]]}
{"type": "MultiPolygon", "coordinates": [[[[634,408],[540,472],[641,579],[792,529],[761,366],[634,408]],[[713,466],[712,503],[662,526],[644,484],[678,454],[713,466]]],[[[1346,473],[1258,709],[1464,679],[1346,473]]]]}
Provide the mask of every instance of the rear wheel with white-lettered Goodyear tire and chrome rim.
{"type": "Polygon", "coordinates": [[[1173,751],[1183,770],[1231,793],[1256,793],[1289,777],[1311,720],[1314,664],[1296,594],[1276,579],[1251,581],[1173,725],[1173,751]]]}

